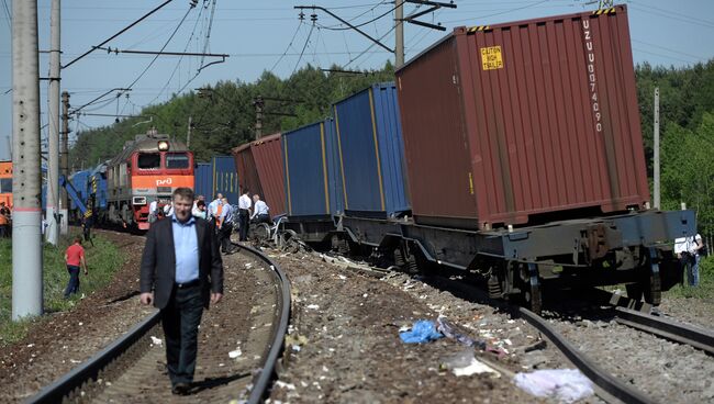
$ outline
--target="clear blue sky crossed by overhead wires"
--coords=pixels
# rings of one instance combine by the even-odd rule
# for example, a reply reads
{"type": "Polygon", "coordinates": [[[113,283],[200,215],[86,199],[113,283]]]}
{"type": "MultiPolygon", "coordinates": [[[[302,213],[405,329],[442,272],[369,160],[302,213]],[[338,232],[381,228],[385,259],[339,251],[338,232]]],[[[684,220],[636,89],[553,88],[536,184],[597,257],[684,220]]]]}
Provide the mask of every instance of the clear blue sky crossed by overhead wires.
{"type": "MultiPolygon", "coordinates": [[[[444,1],[444,0],[442,0],[444,1]]],[[[65,0],[62,7],[63,64],[109,38],[153,8],[159,0],[65,0]]],[[[447,27],[484,25],[538,16],[593,10],[589,0],[456,0],[457,9],[442,9],[420,20],[440,22],[447,27]]],[[[204,0],[199,0],[203,4],[204,0]]],[[[621,2],[618,2],[621,3],[621,2]]],[[[714,1],[629,0],[629,26],[635,63],[687,66],[714,57],[714,1]]],[[[8,159],[7,136],[12,133],[12,53],[8,13],[12,0],[0,0],[0,159],[8,159]]],[[[49,43],[49,0],[38,1],[40,48],[49,43]]],[[[369,35],[394,45],[391,30],[393,4],[380,0],[216,0],[213,23],[209,24],[213,0],[208,7],[189,11],[189,0],[174,0],[157,13],[105,46],[120,49],[207,52],[231,55],[225,63],[209,66],[197,76],[201,66],[198,57],[159,57],[110,55],[97,50],[72,66],[63,69],[63,90],[71,94],[74,108],[96,99],[113,88],[132,91],[116,97],[110,92],[83,111],[110,116],[81,115],[70,123],[71,131],[107,125],[116,114],[137,114],[142,106],[167,101],[172,93],[197,89],[219,80],[252,82],[264,70],[288,77],[295,68],[310,63],[327,68],[333,63],[353,69],[381,67],[393,55],[371,46],[365,37],[349,30],[335,31],[339,22],[317,11],[312,27],[311,12],[304,21],[298,19],[293,5],[322,5],[353,24],[362,26],[369,35]],[[313,2],[314,1],[314,2],[313,2]],[[186,16],[182,23],[181,20],[186,16]],[[210,30],[209,30],[210,27],[210,30]],[[312,27],[312,30],[311,30],[312,27]],[[174,33],[175,32],[175,33],[174,33]],[[209,35],[210,32],[210,35],[209,35]],[[169,37],[174,36],[169,41],[169,37]],[[207,41],[208,37],[208,41],[207,41]],[[303,50],[304,48],[304,50],[303,50]],[[302,55],[302,56],[301,56],[302,55]],[[147,66],[149,66],[147,68],[147,66]],[[143,70],[145,74],[140,77],[143,70]],[[137,79],[138,78],[138,79],[137,79]],[[192,79],[192,80],[191,80],[192,79]],[[129,94],[129,98],[126,97],[129,94]]],[[[415,10],[405,7],[405,15],[415,10]]],[[[416,25],[405,25],[406,59],[434,43],[446,33],[416,25]]],[[[207,58],[203,64],[211,60],[207,58]]],[[[47,76],[48,57],[40,56],[41,76],[47,76]]],[[[47,82],[41,82],[42,122],[47,122],[47,82]]],[[[42,131],[46,138],[46,128],[42,131]]]]}

